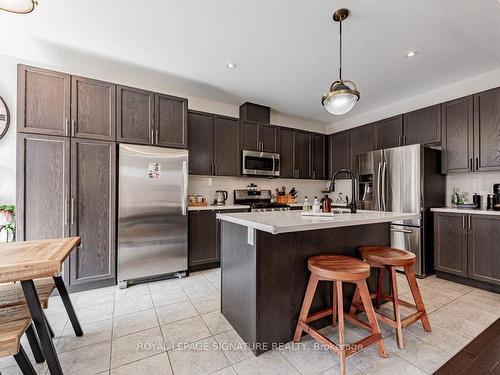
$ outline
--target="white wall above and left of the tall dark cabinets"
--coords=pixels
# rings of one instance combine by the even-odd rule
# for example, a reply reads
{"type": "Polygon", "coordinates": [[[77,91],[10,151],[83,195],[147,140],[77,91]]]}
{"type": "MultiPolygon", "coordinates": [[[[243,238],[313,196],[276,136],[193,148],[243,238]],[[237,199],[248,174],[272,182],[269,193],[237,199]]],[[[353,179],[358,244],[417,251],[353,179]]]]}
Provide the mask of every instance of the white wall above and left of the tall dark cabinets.
{"type": "MultiPolygon", "coordinates": [[[[70,61],[61,59],[64,66],[45,66],[36,62],[24,61],[0,55],[0,96],[5,100],[11,113],[11,123],[4,138],[0,140],[0,204],[13,204],[16,197],[16,97],[17,97],[17,64],[29,64],[59,70],[75,75],[108,80],[111,82],[140,87],[152,91],[177,95],[188,99],[190,109],[212,112],[226,116],[239,116],[241,103],[222,103],[219,101],[186,95],[182,92],[182,84],[177,81],[163,79],[154,71],[130,67],[126,64],[103,61],[96,64],[94,60],[86,60],[86,56],[74,56],[70,61]],[[159,77],[157,79],[157,77],[159,77]]],[[[322,123],[295,119],[283,116],[271,110],[271,123],[290,126],[310,131],[324,132],[322,123]]]]}

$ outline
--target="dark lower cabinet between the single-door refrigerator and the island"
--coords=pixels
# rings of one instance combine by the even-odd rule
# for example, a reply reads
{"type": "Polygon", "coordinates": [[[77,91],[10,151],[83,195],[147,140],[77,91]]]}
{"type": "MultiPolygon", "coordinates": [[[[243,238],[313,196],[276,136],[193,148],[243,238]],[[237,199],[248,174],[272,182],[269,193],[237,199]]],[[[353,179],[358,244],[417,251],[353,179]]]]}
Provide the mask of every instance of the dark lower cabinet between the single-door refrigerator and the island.
{"type": "Polygon", "coordinates": [[[188,262],[190,271],[220,266],[220,223],[218,213],[247,210],[193,210],[189,211],[188,262]]]}

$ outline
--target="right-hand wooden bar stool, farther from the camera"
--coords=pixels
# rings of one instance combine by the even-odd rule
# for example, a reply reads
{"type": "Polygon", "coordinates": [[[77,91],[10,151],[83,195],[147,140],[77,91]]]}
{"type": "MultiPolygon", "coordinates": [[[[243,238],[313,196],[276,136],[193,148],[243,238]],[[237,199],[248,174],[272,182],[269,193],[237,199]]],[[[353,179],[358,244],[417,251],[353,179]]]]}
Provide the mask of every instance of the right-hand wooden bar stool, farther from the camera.
{"type": "MultiPolygon", "coordinates": [[[[427,317],[427,312],[425,311],[424,301],[422,300],[420,289],[418,288],[415,272],[412,268],[412,265],[415,264],[415,254],[406,250],[393,249],[390,247],[361,247],[359,251],[363,259],[368,262],[371,267],[376,267],[379,269],[377,291],[376,293],[373,293],[371,297],[376,299],[377,308],[380,307],[380,302],[382,300],[392,302],[394,319],[391,319],[379,313],[378,311],[375,311],[375,315],[382,322],[396,328],[399,348],[403,349],[404,347],[403,328],[408,327],[410,324],[413,324],[416,321],[420,320],[422,322],[424,330],[430,332],[431,325],[429,323],[429,318],[427,317]],[[415,305],[399,299],[396,267],[403,267],[406,279],[408,280],[408,285],[410,286],[411,294],[413,295],[413,299],[415,301],[415,305]],[[391,295],[384,295],[382,293],[382,271],[384,268],[389,271],[390,288],[392,292],[391,295]],[[399,311],[400,305],[415,309],[417,311],[410,316],[401,319],[401,314],[399,311]]],[[[355,316],[358,310],[365,311],[365,309],[363,308],[363,304],[361,304],[362,301],[360,295],[361,292],[356,289],[354,298],[352,300],[351,310],[349,312],[349,315],[351,316],[355,316]]]]}

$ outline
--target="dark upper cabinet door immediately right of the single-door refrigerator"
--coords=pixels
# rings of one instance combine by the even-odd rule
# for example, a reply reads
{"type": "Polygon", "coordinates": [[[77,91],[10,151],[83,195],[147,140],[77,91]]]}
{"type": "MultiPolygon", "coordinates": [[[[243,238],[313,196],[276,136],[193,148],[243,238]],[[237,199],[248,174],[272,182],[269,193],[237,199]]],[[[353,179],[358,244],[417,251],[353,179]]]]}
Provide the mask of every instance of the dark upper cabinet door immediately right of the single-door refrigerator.
{"type": "Polygon", "coordinates": [[[214,116],[189,111],[189,174],[214,174],[214,116]]]}

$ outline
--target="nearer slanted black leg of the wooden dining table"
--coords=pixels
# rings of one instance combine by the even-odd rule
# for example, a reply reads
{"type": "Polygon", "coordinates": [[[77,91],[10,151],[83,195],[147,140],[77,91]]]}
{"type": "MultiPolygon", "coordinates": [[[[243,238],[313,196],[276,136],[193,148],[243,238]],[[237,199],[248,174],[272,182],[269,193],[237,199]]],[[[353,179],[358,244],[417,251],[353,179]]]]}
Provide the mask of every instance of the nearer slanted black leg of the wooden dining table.
{"type": "Polygon", "coordinates": [[[40,339],[40,343],[42,345],[42,352],[45,360],[47,361],[49,371],[52,375],[62,375],[63,371],[61,369],[61,364],[59,363],[54,343],[50,338],[49,329],[43,316],[35,284],[33,283],[33,280],[25,280],[21,281],[21,285],[23,287],[24,296],[26,297],[26,303],[28,304],[28,308],[31,313],[31,319],[35,324],[38,338],[40,339]]]}

